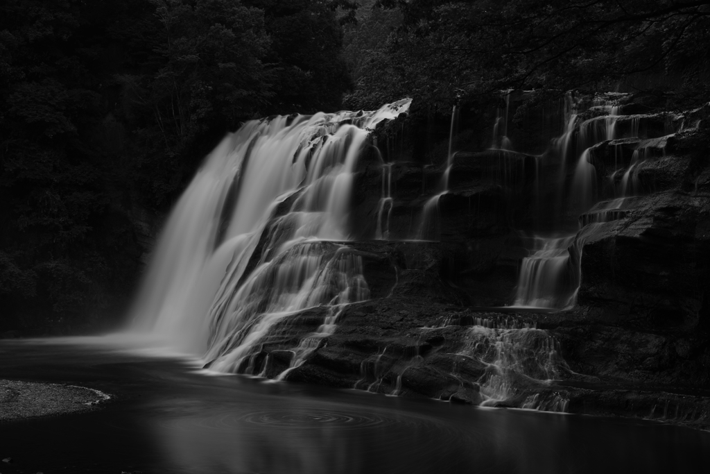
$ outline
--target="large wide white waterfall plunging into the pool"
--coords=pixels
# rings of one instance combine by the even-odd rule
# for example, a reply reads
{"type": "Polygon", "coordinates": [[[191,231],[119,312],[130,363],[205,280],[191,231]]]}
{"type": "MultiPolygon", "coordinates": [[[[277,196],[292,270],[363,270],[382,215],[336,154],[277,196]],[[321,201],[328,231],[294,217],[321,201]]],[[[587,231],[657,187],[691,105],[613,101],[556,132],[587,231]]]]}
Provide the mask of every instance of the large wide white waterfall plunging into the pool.
{"type": "Polygon", "coordinates": [[[368,298],[342,243],[353,174],[370,131],[410,102],[253,120],[226,136],[168,218],[134,327],[234,371],[283,318],[368,298]]]}

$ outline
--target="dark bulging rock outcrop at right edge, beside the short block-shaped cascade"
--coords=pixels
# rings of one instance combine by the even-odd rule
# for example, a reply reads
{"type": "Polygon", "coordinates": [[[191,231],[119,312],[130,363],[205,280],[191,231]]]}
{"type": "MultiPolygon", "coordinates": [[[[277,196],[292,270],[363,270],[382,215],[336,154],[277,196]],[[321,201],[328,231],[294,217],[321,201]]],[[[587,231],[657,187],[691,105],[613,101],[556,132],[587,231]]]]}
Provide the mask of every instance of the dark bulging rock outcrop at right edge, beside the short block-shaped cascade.
{"type": "Polygon", "coordinates": [[[653,330],[701,323],[710,262],[710,201],[681,190],[636,198],[590,232],[579,305],[653,330]]]}

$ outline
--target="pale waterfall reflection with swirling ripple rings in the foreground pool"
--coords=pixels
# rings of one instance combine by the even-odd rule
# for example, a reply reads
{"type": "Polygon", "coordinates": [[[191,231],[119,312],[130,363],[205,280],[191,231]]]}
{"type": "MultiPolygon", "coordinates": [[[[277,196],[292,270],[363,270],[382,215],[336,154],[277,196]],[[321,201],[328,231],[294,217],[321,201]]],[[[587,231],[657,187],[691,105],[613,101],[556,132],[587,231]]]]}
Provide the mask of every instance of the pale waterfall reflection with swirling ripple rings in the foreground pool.
{"type": "Polygon", "coordinates": [[[393,407],[270,402],[201,407],[155,424],[155,438],[175,467],[194,473],[437,472],[469,465],[457,457],[465,443],[490,444],[446,419],[393,407]]]}

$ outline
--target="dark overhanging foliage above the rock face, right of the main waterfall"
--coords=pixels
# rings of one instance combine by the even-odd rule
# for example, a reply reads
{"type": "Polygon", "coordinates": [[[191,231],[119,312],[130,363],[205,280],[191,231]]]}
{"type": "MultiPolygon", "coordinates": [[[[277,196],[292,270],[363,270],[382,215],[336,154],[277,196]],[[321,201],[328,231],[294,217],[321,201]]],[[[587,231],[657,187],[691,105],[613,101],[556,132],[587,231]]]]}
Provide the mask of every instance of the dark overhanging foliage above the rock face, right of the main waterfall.
{"type": "MultiPolygon", "coordinates": [[[[414,95],[448,109],[506,89],[618,87],[710,99],[710,1],[380,0],[402,15],[348,102],[414,95]],[[382,72],[386,71],[386,74],[382,72]]],[[[382,21],[381,16],[373,21],[382,21]]],[[[542,97],[540,97],[542,98],[542,97]]]]}

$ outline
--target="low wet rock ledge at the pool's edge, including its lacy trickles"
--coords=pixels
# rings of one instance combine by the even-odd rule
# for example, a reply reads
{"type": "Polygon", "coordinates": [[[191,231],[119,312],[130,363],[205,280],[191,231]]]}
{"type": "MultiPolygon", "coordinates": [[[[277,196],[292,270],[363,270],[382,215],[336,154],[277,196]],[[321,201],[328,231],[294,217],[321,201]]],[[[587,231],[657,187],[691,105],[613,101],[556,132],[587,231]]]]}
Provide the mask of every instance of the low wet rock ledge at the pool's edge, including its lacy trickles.
{"type": "MultiPolygon", "coordinates": [[[[293,321],[282,337],[316,319],[313,316],[304,314],[302,321],[293,321]]],[[[707,377],[702,368],[705,352],[684,359],[684,370],[679,370],[679,362],[653,365],[662,355],[674,357],[668,348],[677,345],[679,338],[665,335],[644,346],[648,337],[574,311],[496,313],[383,298],[346,308],[339,317],[339,330],[322,340],[314,355],[287,378],[478,405],[482,392],[491,388],[490,382],[481,384],[490,380],[487,372],[500,370],[481,359],[503,357],[507,363],[496,360],[494,364],[508,365],[504,368],[508,397],[488,406],[625,416],[710,429],[710,391],[701,388],[703,383],[688,384],[684,373],[707,377]],[[572,318],[577,321],[569,324],[572,318]],[[490,340],[484,331],[497,337],[490,340]],[[472,337],[476,333],[483,337],[472,337]],[[508,345],[507,337],[514,338],[510,342],[515,345],[508,345]],[[610,350],[612,343],[616,346],[610,350]],[[493,355],[501,344],[502,352],[520,353],[493,355]],[[621,360],[628,361],[628,367],[621,360]]],[[[283,360],[277,357],[275,342],[264,348],[272,355],[266,375],[284,370],[290,360],[286,351],[281,352],[283,360]]]]}

